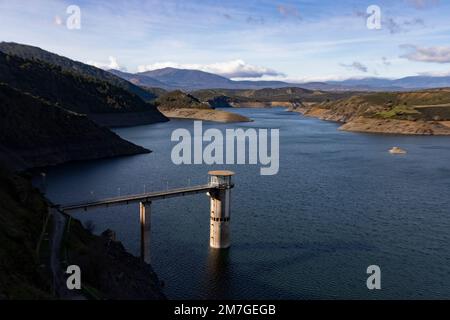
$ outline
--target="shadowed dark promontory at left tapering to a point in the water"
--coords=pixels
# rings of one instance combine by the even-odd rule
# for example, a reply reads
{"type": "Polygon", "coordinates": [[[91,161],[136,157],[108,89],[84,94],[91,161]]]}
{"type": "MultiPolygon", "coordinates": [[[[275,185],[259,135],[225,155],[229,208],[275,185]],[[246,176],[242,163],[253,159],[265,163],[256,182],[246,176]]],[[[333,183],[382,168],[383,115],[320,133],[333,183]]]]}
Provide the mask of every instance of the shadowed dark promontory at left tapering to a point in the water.
{"type": "Polygon", "coordinates": [[[0,84],[0,159],[18,169],[146,153],[86,116],[0,84]]]}

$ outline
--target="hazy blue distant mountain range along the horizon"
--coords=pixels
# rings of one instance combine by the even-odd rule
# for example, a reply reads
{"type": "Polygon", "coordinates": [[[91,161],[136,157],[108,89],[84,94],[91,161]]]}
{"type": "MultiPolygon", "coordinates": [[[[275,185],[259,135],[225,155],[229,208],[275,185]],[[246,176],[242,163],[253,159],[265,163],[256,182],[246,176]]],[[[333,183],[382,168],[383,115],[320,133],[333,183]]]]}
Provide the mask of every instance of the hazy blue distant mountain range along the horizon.
{"type": "Polygon", "coordinates": [[[283,81],[235,81],[199,70],[164,68],[140,73],[109,70],[116,76],[143,87],[166,90],[263,89],[301,87],[323,91],[404,91],[450,87],[450,77],[411,76],[401,79],[363,78],[343,81],[288,83],[283,81]]]}

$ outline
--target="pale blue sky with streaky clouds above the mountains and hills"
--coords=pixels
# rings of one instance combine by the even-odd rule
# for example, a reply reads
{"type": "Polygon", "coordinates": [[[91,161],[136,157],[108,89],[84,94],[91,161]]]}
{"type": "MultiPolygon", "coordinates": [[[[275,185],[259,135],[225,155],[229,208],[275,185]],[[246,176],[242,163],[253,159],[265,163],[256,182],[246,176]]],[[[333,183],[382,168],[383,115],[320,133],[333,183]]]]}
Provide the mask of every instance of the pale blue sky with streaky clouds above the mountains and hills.
{"type": "Polygon", "coordinates": [[[0,40],[129,72],[289,81],[450,74],[445,0],[0,0],[0,40]],[[66,27],[69,5],[81,29],[66,27]],[[366,10],[381,9],[381,30],[366,10]]]}

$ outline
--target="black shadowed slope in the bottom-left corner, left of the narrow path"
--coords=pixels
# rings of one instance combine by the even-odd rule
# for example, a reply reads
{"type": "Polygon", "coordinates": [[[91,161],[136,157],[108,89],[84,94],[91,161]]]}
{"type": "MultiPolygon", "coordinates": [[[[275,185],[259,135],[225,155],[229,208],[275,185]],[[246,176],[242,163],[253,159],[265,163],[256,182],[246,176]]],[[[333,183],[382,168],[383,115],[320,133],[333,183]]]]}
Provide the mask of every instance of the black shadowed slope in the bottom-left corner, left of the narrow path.
{"type": "Polygon", "coordinates": [[[0,300],[52,298],[38,243],[48,212],[39,192],[0,164],[0,300]]]}

